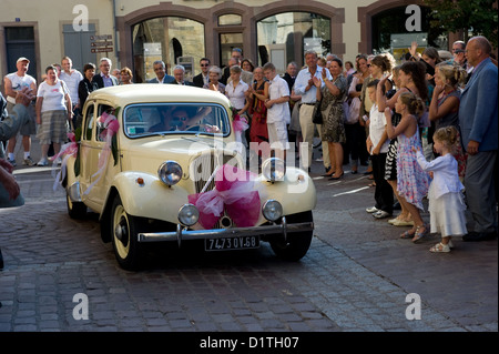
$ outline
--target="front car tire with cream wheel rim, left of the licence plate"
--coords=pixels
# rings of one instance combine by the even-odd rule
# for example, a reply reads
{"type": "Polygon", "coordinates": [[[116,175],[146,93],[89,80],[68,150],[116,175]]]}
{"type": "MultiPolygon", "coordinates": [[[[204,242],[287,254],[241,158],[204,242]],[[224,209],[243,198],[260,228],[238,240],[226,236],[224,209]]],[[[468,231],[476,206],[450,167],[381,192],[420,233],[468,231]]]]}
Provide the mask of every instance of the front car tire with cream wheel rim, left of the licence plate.
{"type": "Polygon", "coordinates": [[[120,195],[114,198],[110,218],[111,239],[118,263],[124,270],[138,271],[143,260],[143,247],[136,239],[141,229],[140,219],[126,213],[120,195]]]}

